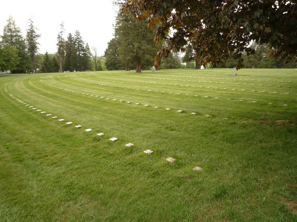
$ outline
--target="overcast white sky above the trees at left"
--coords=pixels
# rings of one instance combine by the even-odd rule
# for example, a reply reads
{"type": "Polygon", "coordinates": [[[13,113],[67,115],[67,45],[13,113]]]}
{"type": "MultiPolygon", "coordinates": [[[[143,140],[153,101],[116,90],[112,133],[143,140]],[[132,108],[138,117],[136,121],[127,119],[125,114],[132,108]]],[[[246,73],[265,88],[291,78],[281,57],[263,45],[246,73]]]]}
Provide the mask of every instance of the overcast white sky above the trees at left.
{"type": "Polygon", "coordinates": [[[64,21],[64,39],[68,33],[74,36],[75,30],[79,30],[85,44],[98,48],[97,55],[103,55],[108,41],[113,38],[118,10],[112,0],[4,0],[0,6],[0,35],[11,15],[25,37],[28,19],[32,16],[35,27],[39,29],[37,33],[41,35],[38,39],[39,53],[55,53],[60,24],[64,21]]]}

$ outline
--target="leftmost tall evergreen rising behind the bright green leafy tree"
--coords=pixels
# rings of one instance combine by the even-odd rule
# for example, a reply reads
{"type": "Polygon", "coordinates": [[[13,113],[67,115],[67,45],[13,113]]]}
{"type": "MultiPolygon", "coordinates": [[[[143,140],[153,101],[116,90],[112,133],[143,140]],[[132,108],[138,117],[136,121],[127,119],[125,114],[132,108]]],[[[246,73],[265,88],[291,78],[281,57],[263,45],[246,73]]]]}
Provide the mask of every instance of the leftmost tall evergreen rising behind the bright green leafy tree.
{"type": "Polygon", "coordinates": [[[32,63],[28,53],[26,52],[25,40],[20,28],[16,26],[12,16],[8,18],[7,25],[3,28],[0,45],[2,47],[12,46],[18,50],[18,63],[15,64],[13,71],[10,70],[12,73],[25,73],[26,71],[31,70],[32,63]]]}

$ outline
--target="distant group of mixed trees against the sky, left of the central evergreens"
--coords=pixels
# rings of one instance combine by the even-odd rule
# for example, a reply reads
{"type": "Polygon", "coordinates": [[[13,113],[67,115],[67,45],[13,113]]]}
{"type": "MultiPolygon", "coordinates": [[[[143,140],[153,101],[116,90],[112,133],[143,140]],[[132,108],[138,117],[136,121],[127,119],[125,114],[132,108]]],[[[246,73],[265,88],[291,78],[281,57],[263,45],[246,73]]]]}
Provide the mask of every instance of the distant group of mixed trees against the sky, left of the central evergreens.
{"type": "Polygon", "coordinates": [[[0,41],[0,70],[10,70],[11,73],[42,72],[53,73],[62,71],[102,70],[102,57],[97,56],[95,47],[85,44],[80,32],[74,36],[68,34],[64,39],[64,23],[57,37],[57,52],[55,54],[39,54],[38,29],[32,18],[29,19],[26,36],[16,26],[10,16],[4,26],[0,41]]]}

